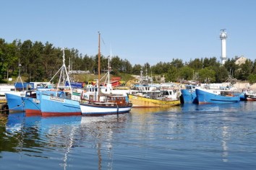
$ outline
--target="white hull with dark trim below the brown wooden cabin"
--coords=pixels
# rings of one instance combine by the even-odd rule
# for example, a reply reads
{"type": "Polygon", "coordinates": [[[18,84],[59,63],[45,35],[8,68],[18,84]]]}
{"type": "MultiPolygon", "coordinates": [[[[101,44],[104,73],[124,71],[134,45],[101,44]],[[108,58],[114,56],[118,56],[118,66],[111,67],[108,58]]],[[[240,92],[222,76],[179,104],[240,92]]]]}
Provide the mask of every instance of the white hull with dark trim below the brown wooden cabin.
{"type": "Polygon", "coordinates": [[[122,113],[127,113],[132,109],[132,104],[125,106],[106,106],[104,105],[96,105],[96,104],[80,104],[82,115],[88,116],[101,116],[101,115],[118,115],[122,113]]]}

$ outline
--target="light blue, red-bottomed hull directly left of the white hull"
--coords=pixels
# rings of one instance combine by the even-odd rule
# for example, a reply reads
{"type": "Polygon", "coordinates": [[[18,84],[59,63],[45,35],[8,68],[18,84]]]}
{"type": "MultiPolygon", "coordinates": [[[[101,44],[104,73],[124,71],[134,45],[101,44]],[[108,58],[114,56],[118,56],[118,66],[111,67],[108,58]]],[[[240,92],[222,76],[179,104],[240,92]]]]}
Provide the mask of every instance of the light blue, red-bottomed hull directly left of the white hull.
{"type": "Polygon", "coordinates": [[[81,115],[80,102],[72,99],[40,94],[42,116],[81,115]]]}

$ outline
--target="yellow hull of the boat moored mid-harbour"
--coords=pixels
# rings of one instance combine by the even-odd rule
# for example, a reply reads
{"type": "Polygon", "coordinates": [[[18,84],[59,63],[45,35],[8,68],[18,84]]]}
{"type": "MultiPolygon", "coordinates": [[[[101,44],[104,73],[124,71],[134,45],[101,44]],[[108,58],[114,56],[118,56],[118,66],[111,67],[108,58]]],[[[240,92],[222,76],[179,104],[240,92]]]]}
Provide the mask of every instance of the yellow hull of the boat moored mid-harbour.
{"type": "Polygon", "coordinates": [[[132,102],[132,107],[171,107],[181,104],[180,100],[149,99],[131,94],[128,97],[129,102],[132,102]]]}

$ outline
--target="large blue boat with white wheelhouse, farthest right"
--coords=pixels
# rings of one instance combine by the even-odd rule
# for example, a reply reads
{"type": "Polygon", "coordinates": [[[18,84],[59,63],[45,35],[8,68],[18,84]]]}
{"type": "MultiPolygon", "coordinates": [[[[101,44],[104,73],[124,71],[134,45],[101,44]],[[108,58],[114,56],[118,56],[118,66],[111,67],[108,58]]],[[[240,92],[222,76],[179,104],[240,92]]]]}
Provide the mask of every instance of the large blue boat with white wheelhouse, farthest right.
{"type": "Polygon", "coordinates": [[[235,103],[240,101],[241,92],[230,86],[221,87],[220,89],[195,89],[198,104],[224,104],[235,103]]]}

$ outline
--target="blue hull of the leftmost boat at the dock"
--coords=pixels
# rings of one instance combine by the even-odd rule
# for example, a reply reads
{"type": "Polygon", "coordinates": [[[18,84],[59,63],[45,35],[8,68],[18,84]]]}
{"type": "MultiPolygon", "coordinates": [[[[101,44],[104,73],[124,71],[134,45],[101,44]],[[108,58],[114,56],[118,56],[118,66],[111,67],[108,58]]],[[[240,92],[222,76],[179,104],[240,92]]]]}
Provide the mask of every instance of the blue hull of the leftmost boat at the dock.
{"type": "Polygon", "coordinates": [[[12,112],[24,112],[24,104],[22,97],[19,92],[6,93],[5,97],[7,99],[9,110],[12,112]]]}

